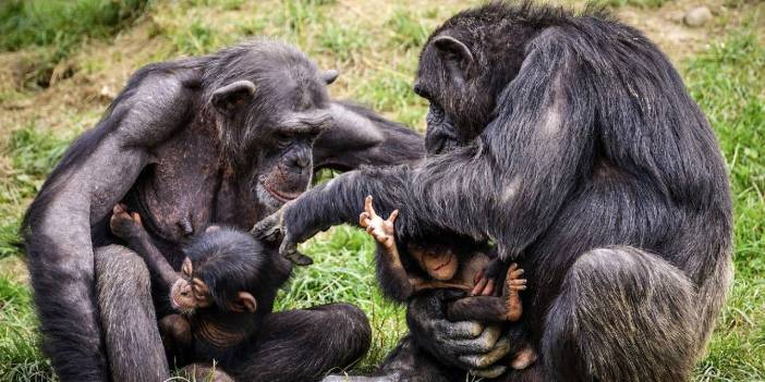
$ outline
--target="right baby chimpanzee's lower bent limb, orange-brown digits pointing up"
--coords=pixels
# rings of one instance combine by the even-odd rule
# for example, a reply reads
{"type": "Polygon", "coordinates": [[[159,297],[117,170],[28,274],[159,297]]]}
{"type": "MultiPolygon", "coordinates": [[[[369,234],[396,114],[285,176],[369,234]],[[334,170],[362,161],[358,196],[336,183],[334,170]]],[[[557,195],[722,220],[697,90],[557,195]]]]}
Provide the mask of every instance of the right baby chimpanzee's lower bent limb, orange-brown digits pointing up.
{"type": "Polygon", "coordinates": [[[449,321],[503,322],[518,321],[523,309],[520,291],[526,288],[526,280],[521,279],[523,270],[513,263],[505,279],[502,296],[471,296],[450,303],[447,307],[449,321]]]}

